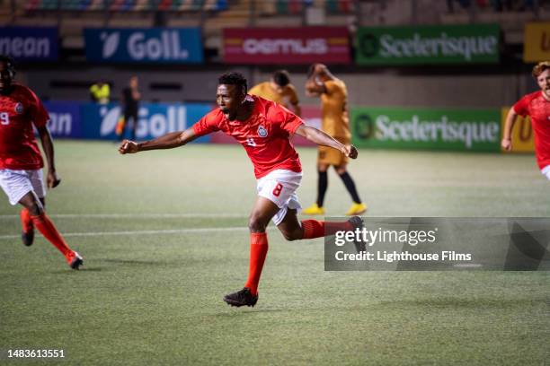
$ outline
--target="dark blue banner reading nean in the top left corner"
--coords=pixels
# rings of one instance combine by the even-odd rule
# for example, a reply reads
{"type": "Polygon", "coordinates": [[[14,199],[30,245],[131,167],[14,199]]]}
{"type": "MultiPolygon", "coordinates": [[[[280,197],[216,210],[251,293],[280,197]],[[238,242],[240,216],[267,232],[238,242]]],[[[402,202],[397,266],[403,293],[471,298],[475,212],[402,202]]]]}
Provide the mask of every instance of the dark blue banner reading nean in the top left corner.
{"type": "Polygon", "coordinates": [[[15,61],[56,61],[58,28],[0,27],[0,55],[15,61]]]}

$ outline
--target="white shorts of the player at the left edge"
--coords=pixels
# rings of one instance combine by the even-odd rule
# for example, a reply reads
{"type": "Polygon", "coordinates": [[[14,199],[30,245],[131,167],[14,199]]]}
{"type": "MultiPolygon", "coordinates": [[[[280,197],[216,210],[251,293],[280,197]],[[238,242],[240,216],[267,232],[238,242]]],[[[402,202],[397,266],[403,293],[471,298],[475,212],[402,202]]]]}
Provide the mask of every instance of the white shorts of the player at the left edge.
{"type": "Polygon", "coordinates": [[[8,196],[11,205],[17,205],[22,197],[31,191],[34,191],[39,198],[46,196],[44,175],[41,169],[0,169],[0,187],[8,196]]]}

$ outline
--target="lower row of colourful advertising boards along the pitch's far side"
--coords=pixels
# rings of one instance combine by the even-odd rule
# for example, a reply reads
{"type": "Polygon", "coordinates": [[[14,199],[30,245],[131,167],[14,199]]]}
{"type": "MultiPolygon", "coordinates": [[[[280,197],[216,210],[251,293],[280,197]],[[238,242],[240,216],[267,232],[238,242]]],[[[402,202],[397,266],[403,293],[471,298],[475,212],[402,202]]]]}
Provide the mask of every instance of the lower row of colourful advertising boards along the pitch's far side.
{"type": "MultiPolygon", "coordinates": [[[[56,138],[116,140],[120,106],[79,101],[49,101],[49,129],[56,138]]],[[[138,112],[137,139],[145,140],[192,126],[213,108],[209,103],[142,103],[138,112]]],[[[412,109],[353,107],[350,128],[353,144],[365,148],[500,152],[508,108],[412,109]]],[[[302,106],[308,126],[321,127],[318,106],[302,106]]],[[[126,133],[128,134],[129,128],[126,133]]],[[[235,144],[219,132],[198,142],[235,144]]],[[[294,136],[298,146],[314,146],[294,136]]],[[[519,118],[512,132],[512,152],[534,152],[533,130],[528,118],[519,118]]]]}

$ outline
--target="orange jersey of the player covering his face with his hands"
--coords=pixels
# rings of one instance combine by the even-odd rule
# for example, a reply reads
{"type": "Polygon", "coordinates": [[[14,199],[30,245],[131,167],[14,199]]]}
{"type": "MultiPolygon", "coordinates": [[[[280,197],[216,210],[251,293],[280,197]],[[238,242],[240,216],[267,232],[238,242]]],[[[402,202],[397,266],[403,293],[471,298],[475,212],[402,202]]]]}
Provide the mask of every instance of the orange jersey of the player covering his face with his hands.
{"type": "Polygon", "coordinates": [[[349,139],[348,90],[342,80],[324,82],[326,92],[321,94],[323,131],[327,135],[349,139]]]}

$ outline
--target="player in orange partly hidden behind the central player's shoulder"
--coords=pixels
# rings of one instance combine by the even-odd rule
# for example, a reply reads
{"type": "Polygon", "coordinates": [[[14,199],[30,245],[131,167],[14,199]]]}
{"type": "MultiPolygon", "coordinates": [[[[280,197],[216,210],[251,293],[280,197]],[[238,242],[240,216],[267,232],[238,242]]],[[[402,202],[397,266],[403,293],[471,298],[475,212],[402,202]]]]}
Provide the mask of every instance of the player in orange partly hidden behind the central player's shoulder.
{"type": "Polygon", "coordinates": [[[298,100],[296,88],[290,83],[290,75],[287,70],[275,71],[269,82],[253,86],[248,93],[279,103],[290,109],[297,117],[302,117],[300,100],[298,100]]]}

